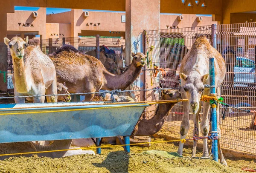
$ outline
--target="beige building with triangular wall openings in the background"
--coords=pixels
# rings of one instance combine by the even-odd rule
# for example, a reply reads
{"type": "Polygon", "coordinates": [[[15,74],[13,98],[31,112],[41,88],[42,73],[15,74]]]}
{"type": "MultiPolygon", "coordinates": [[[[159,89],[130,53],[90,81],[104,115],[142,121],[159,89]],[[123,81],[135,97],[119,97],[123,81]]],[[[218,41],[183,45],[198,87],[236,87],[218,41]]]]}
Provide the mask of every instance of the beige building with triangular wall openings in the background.
{"type": "MultiPolygon", "coordinates": [[[[160,29],[211,25],[211,16],[195,14],[160,14],[160,29]]],[[[35,37],[41,39],[110,36],[125,38],[125,12],[93,12],[72,9],[69,12],[46,14],[46,8],[38,11],[15,11],[7,14],[7,37],[35,37]]]]}

